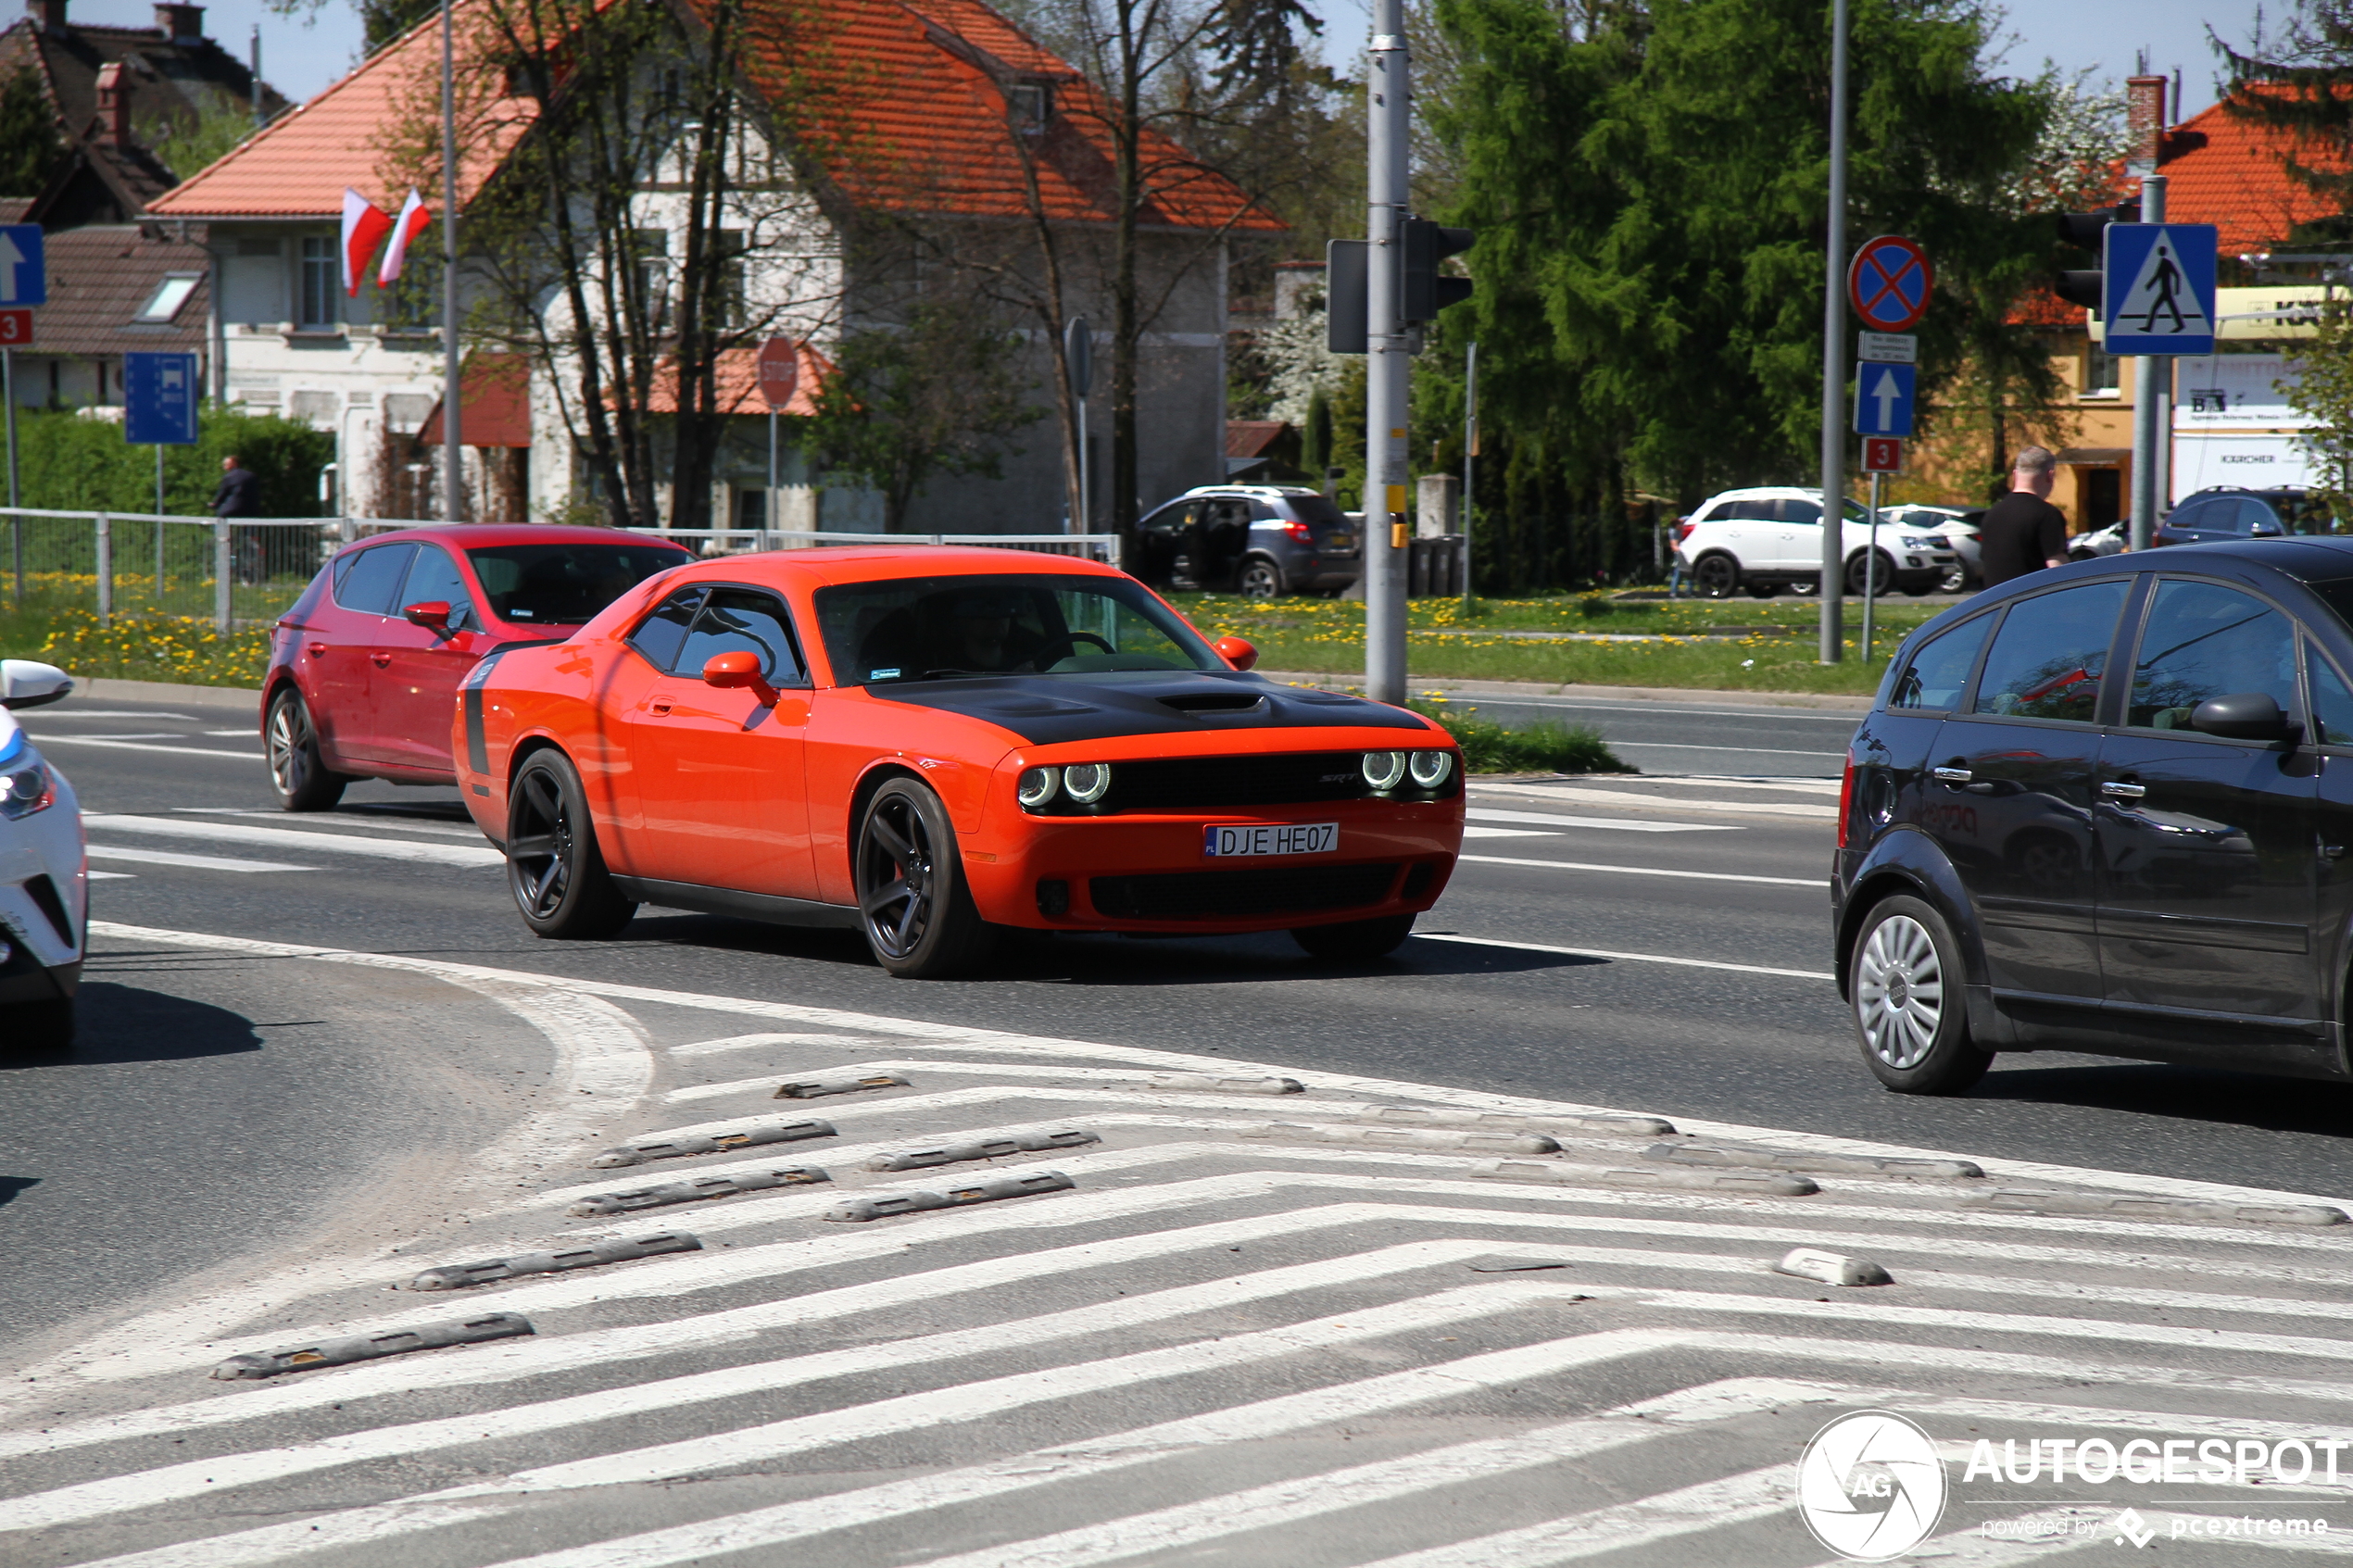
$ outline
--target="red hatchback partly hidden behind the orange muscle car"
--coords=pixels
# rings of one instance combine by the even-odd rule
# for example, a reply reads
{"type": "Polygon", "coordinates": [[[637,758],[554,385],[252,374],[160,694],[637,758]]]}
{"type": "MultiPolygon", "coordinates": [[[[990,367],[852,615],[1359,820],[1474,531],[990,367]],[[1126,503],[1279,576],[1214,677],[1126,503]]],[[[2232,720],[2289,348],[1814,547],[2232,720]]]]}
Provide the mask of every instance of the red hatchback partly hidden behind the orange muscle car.
{"type": "Polygon", "coordinates": [[[271,639],[261,738],[287,811],[355,778],[454,785],[449,708],[494,649],[562,642],[694,557],[614,529],[452,524],[336,552],[271,639]]]}

